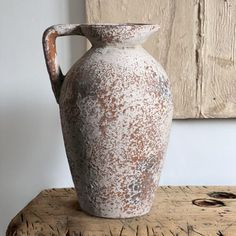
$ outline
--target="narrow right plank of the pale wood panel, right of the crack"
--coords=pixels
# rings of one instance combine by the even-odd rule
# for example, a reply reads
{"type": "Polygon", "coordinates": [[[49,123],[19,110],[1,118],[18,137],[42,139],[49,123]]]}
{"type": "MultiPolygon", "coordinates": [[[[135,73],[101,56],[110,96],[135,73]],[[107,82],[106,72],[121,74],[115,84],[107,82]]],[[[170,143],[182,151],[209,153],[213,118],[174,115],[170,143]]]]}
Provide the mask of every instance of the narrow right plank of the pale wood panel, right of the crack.
{"type": "Polygon", "coordinates": [[[201,116],[236,117],[236,1],[205,0],[201,116]]]}

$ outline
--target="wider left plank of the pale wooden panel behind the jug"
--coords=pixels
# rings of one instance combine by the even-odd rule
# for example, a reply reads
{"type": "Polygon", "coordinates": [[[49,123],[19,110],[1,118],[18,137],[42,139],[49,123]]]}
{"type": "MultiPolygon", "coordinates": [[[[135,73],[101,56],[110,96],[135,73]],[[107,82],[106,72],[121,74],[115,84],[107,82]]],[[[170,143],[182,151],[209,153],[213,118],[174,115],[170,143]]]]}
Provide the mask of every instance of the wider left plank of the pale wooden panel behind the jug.
{"type": "Polygon", "coordinates": [[[161,28],[144,47],[166,69],[172,84],[174,118],[196,118],[198,0],[87,0],[89,23],[155,22],[161,28]]]}

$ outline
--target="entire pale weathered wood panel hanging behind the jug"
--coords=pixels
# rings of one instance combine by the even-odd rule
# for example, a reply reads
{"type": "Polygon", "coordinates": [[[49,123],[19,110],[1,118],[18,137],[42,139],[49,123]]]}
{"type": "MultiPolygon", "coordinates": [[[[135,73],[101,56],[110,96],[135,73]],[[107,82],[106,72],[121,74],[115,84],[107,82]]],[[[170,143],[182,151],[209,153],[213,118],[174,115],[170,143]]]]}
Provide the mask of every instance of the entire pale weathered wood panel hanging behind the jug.
{"type": "Polygon", "coordinates": [[[86,15],[160,24],[144,47],[169,75],[175,119],[236,117],[234,0],[86,0],[86,15]]]}

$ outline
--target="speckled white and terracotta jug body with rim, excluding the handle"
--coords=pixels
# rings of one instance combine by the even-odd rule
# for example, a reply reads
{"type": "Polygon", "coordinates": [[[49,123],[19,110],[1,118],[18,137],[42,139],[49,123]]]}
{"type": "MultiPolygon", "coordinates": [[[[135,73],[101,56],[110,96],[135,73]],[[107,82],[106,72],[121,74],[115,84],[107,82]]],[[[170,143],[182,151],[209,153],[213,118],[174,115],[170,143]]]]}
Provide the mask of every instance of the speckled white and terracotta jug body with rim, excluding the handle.
{"type": "Polygon", "coordinates": [[[128,218],[149,212],[163,165],[172,99],[163,68],[140,45],[157,25],[80,25],[92,48],[58,99],[81,208],[128,218]]]}

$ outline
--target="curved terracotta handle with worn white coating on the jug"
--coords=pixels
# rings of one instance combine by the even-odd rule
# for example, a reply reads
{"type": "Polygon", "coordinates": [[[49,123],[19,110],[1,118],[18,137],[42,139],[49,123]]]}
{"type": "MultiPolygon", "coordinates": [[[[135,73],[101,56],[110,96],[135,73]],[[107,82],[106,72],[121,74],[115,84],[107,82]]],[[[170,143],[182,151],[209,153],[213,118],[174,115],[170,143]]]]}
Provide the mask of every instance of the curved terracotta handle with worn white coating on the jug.
{"type": "Polygon", "coordinates": [[[59,103],[61,86],[65,76],[57,61],[56,38],[67,35],[84,36],[78,24],[53,25],[47,28],[43,34],[44,57],[57,103],[59,103]]]}

